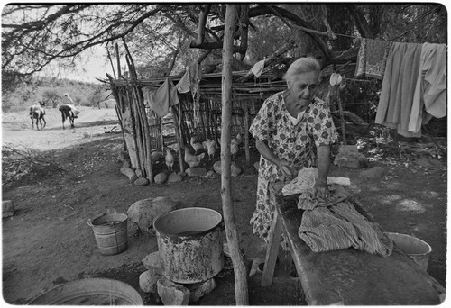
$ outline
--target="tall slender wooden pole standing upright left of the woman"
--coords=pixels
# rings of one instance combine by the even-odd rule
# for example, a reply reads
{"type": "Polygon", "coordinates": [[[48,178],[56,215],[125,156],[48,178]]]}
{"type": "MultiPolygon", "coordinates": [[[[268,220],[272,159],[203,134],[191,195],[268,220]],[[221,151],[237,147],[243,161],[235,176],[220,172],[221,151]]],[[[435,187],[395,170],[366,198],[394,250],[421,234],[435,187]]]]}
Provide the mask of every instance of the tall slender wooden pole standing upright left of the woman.
{"type": "Polygon", "coordinates": [[[232,118],[232,58],[237,5],[226,5],[226,26],[224,33],[222,72],[222,114],[221,114],[221,198],[226,224],[226,236],[235,274],[236,305],[249,305],[247,274],[244,267],[240,240],[234,219],[231,187],[230,123],[232,118]]]}

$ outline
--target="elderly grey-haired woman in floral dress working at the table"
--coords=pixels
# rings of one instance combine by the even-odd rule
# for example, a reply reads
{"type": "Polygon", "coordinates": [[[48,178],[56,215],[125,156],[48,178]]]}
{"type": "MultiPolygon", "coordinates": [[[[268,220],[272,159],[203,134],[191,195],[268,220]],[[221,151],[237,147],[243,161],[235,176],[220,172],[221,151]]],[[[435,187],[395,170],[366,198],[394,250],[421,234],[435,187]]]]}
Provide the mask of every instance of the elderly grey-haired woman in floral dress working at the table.
{"type": "Polygon", "coordinates": [[[275,211],[269,184],[290,180],[303,167],[317,167],[314,188],[327,196],[330,145],[336,128],[328,105],[313,95],[318,84],[317,59],[300,58],[290,65],[284,79],[288,88],[270,96],[257,113],[249,131],[261,154],[253,233],[268,242],[275,211]]]}

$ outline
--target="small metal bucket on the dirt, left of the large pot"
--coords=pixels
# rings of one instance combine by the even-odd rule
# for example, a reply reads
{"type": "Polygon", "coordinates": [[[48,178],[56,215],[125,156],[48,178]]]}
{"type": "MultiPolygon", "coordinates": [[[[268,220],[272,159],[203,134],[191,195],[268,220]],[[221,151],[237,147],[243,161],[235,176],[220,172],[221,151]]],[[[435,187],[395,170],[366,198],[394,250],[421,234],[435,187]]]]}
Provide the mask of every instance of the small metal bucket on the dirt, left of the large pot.
{"type": "Polygon", "coordinates": [[[87,222],[102,255],[116,255],[128,248],[127,218],[124,213],[104,213],[87,222]]]}

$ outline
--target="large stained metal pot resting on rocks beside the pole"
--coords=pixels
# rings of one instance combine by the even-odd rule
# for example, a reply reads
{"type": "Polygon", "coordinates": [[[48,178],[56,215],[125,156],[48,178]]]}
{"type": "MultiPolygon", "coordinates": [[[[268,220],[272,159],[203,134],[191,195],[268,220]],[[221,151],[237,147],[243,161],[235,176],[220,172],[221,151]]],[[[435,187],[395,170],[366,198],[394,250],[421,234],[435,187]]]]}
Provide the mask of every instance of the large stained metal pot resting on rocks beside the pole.
{"type": "Polygon", "coordinates": [[[163,275],[179,284],[216,276],[224,266],[222,215],[189,207],[164,213],[153,222],[163,275]]]}

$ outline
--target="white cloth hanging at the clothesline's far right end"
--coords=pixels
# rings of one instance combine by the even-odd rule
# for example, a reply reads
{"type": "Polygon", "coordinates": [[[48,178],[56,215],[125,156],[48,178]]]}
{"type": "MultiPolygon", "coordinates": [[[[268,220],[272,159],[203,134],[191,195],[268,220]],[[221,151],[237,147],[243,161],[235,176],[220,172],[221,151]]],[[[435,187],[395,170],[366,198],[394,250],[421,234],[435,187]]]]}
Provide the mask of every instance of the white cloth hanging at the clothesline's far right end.
{"type": "Polygon", "coordinates": [[[432,116],[446,115],[446,45],[424,43],[413,96],[409,131],[420,131],[432,116]],[[426,113],[423,113],[423,107],[426,113]]]}

